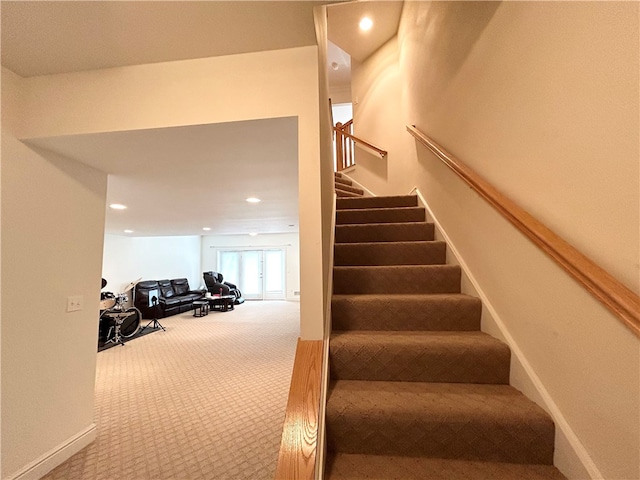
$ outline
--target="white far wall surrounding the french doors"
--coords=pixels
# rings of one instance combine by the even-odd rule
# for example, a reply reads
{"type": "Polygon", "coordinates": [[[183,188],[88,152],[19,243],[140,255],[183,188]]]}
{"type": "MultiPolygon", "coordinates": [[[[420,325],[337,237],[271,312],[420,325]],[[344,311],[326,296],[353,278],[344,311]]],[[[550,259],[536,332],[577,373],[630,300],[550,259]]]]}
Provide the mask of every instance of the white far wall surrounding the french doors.
{"type": "Polygon", "coordinates": [[[218,269],[218,252],[230,248],[247,250],[282,247],[286,258],[286,299],[299,301],[303,292],[300,292],[300,240],[297,233],[271,233],[261,234],[256,237],[249,235],[206,235],[202,237],[202,266],[200,269],[200,281],[202,272],[209,270],[225,274],[218,269]],[[294,292],[300,292],[296,295],[294,292]]]}

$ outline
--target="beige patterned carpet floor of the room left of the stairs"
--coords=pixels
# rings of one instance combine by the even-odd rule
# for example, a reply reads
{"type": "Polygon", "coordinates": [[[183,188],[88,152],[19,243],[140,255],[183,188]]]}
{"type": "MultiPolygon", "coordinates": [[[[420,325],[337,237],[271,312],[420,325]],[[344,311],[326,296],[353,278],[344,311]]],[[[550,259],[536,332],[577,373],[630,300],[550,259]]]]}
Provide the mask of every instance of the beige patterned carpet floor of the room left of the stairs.
{"type": "Polygon", "coordinates": [[[44,478],[272,479],[299,316],[246,302],[100,352],[98,438],[44,478]]]}

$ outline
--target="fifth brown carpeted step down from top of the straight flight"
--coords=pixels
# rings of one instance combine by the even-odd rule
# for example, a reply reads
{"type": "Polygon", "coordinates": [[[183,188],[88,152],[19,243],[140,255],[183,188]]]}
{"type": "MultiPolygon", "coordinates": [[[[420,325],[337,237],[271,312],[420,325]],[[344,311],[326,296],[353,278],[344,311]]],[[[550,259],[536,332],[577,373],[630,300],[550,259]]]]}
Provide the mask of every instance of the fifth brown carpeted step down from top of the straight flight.
{"type": "Polygon", "coordinates": [[[333,293],[460,293],[457,265],[333,268],[333,293]]]}

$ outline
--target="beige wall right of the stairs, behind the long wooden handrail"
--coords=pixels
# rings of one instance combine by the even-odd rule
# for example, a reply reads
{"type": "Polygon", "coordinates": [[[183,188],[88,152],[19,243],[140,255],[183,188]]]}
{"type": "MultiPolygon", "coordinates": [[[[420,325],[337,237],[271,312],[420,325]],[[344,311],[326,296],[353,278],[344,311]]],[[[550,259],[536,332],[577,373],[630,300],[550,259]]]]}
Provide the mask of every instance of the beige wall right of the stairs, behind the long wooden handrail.
{"type": "Polygon", "coordinates": [[[418,187],[514,352],[512,383],[556,418],[570,478],[639,478],[640,342],[416,147],[415,124],[640,291],[638,4],[407,2],[397,40],[353,65],[352,176],[418,187]]]}

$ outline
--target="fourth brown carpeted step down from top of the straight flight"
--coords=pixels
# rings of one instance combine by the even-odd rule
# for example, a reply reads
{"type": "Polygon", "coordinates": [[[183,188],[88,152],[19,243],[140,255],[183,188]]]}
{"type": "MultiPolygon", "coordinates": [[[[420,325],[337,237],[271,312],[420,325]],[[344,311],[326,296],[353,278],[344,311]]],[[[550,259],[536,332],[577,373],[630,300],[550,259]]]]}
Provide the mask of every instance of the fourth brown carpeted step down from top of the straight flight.
{"type": "Polygon", "coordinates": [[[446,261],[445,242],[336,243],[335,265],[434,265],[446,261]]]}

